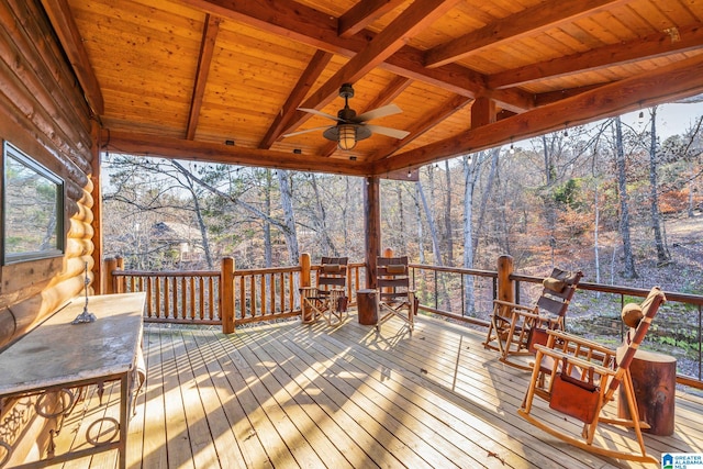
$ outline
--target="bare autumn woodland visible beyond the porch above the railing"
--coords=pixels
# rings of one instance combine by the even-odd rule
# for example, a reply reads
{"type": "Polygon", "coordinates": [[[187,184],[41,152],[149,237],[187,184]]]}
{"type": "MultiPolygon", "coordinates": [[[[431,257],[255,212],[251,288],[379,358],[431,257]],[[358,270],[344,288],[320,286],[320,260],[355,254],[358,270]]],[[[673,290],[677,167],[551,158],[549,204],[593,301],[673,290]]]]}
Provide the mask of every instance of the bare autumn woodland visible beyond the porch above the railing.
{"type": "MultiPolygon", "coordinates": [[[[495,270],[507,254],[521,273],[701,294],[703,116],[661,141],[657,110],[381,180],[382,245],[422,264],[495,270]]],[[[364,178],[112,154],[103,168],[104,252],[127,269],[364,260],[364,178]]]]}

